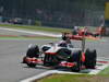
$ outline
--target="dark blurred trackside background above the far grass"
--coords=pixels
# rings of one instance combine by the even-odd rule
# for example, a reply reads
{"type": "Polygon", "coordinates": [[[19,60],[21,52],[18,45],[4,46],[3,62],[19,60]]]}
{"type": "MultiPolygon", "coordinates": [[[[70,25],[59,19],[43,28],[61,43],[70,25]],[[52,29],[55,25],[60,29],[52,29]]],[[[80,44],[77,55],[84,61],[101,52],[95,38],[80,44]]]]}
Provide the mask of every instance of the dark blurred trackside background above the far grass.
{"type": "Polygon", "coordinates": [[[109,26],[109,0],[0,0],[0,23],[109,26]]]}

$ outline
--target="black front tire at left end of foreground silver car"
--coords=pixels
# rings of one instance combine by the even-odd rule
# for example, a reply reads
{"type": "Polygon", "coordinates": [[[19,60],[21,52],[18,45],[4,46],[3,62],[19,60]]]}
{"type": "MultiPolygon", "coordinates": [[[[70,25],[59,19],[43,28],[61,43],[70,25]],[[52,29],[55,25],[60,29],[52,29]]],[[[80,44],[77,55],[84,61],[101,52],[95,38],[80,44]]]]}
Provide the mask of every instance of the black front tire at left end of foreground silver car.
{"type": "Polygon", "coordinates": [[[39,57],[39,47],[37,45],[32,45],[28,48],[26,56],[29,58],[33,58],[33,57],[38,58],[39,57]]]}

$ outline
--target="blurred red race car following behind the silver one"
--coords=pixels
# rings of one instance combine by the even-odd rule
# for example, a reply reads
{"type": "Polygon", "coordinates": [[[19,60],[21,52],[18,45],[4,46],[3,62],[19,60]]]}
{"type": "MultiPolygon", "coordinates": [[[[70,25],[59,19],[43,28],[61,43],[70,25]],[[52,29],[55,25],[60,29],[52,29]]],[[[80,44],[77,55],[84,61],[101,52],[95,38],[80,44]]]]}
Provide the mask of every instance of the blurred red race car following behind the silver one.
{"type": "MultiPolygon", "coordinates": [[[[72,33],[69,33],[65,35],[69,35],[70,38],[76,38],[76,37],[85,37],[88,39],[100,39],[100,37],[105,34],[106,30],[105,27],[97,27],[95,32],[90,32],[87,27],[78,28],[75,27],[72,33]]],[[[64,34],[64,33],[63,33],[64,34]]]]}

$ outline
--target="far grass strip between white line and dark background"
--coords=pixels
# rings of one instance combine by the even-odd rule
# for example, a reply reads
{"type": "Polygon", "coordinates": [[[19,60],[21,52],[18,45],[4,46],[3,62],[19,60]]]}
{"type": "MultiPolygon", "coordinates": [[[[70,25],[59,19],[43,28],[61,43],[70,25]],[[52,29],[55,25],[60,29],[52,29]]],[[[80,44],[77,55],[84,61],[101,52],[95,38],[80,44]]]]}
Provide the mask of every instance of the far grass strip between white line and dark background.
{"type": "Polygon", "coordinates": [[[0,24],[0,26],[11,27],[11,28],[25,28],[25,30],[34,30],[34,31],[45,31],[45,32],[70,32],[69,28],[60,28],[60,27],[47,27],[47,26],[33,26],[33,25],[15,25],[15,24],[0,24]]]}

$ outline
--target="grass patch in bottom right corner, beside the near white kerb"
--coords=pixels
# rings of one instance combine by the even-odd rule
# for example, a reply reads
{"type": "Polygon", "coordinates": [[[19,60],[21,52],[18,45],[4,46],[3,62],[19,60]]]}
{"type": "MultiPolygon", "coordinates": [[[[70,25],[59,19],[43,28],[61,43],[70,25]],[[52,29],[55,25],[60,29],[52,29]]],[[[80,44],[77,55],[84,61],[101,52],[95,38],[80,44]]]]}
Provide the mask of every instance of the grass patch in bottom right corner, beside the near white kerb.
{"type": "Polygon", "coordinates": [[[34,82],[108,82],[109,75],[52,74],[34,82]]]}

